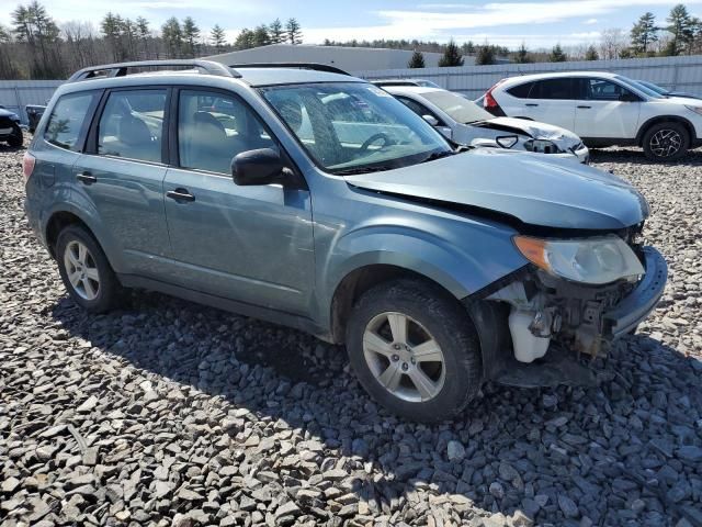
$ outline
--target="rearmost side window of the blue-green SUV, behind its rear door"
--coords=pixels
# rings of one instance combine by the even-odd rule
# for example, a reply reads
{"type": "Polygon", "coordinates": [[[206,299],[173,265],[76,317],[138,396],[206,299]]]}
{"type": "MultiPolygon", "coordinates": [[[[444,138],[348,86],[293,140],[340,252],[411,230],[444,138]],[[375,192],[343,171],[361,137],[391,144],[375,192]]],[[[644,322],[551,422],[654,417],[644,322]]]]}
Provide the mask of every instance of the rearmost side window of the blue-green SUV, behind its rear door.
{"type": "Polygon", "coordinates": [[[95,100],[94,92],[63,96],[54,105],[44,139],[52,145],[78,152],[78,138],[86,124],[86,116],[95,100]]]}

